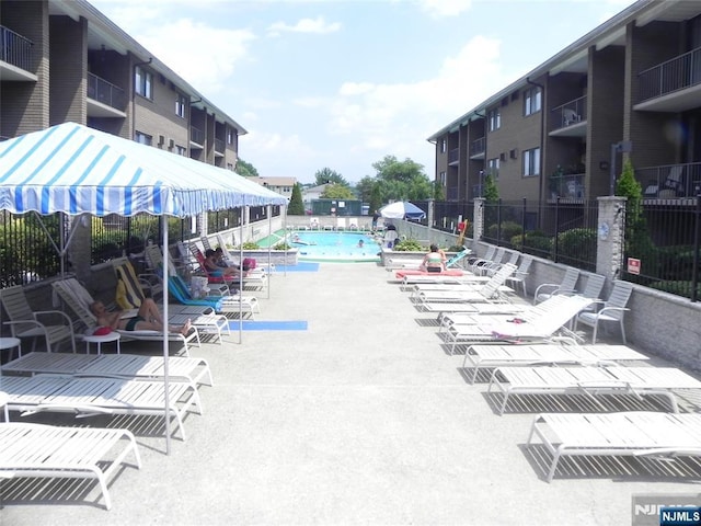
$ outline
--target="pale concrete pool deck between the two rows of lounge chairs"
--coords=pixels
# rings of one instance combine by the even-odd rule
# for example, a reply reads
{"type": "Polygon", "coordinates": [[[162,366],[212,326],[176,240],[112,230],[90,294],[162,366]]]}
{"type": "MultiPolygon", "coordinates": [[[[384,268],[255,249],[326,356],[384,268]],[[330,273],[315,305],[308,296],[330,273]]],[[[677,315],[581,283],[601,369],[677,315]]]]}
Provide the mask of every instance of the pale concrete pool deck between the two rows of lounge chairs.
{"type": "Polygon", "coordinates": [[[194,350],[216,386],[200,389],[206,412],[186,419],[171,455],[158,421],[91,421],[141,425],[143,467],[116,477],[112,511],[78,487],[48,504],[5,503],[0,524],[624,525],[632,494],[697,488],[607,465],[544,482],[524,447],[539,409],[498,416],[389,276],[374,264],[274,276],[260,319],[309,330],[194,350]]]}

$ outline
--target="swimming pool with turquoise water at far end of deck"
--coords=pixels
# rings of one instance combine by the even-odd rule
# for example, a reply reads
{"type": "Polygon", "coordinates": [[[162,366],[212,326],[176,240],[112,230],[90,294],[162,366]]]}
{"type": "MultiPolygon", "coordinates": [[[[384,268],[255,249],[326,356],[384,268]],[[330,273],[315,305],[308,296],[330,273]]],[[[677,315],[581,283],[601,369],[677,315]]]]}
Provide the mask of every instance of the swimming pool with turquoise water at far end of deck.
{"type": "Polygon", "coordinates": [[[380,245],[368,232],[292,231],[288,242],[299,251],[301,261],[377,262],[380,245]],[[363,241],[363,243],[360,243],[363,241]]]}

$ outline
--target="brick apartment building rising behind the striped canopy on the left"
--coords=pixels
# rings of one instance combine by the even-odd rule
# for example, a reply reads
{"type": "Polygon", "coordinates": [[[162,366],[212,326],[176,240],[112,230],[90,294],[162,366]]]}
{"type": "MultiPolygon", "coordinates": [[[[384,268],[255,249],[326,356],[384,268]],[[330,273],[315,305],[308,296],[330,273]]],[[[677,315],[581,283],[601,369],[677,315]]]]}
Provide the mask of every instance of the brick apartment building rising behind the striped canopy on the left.
{"type": "Polygon", "coordinates": [[[0,2],[0,138],[76,122],[234,170],[246,130],[84,0],[0,2]]]}

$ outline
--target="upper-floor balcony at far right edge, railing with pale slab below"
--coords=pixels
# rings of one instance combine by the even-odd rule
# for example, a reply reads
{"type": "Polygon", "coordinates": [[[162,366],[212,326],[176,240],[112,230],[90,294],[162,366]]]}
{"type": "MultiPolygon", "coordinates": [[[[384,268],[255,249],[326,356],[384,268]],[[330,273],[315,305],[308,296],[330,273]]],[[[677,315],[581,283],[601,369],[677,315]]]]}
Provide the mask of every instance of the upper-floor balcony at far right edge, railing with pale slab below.
{"type": "Polygon", "coordinates": [[[701,96],[701,47],[662,62],[637,75],[634,110],[683,112],[699,107],[701,96]]]}

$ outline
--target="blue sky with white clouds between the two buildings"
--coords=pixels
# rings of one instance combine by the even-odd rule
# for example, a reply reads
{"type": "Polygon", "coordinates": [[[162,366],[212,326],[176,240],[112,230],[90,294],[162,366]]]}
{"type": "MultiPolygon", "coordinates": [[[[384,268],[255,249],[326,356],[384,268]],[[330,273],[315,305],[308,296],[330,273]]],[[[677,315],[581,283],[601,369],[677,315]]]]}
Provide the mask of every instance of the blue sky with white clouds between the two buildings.
{"type": "Polygon", "coordinates": [[[426,138],[632,0],[91,0],[249,133],[262,176],[349,182],[387,155],[434,178],[426,138]]]}

